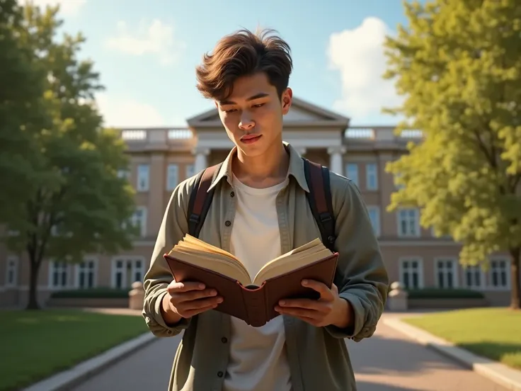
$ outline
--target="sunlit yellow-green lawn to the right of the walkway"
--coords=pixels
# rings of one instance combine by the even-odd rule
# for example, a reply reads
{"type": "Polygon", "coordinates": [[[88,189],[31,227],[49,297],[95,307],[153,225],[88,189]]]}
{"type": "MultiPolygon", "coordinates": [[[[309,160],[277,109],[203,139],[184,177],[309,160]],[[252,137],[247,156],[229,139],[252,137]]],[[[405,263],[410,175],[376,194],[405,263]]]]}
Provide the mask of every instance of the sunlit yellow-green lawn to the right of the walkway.
{"type": "Polygon", "coordinates": [[[521,311],[479,308],[402,320],[480,356],[521,369],[521,311]]]}

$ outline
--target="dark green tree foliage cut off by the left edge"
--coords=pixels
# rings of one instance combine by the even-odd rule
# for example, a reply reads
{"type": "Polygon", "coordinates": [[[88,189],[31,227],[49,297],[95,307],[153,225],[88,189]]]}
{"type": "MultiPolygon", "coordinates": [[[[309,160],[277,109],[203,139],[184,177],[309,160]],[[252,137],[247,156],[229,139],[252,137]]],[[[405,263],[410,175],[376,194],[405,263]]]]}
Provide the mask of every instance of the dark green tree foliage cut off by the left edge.
{"type": "Polygon", "coordinates": [[[34,52],[23,46],[23,23],[16,0],[0,0],[0,221],[20,212],[12,200],[28,194],[37,165],[35,144],[25,126],[41,120],[43,69],[34,52]],[[8,184],[8,186],[7,186],[8,184]]]}

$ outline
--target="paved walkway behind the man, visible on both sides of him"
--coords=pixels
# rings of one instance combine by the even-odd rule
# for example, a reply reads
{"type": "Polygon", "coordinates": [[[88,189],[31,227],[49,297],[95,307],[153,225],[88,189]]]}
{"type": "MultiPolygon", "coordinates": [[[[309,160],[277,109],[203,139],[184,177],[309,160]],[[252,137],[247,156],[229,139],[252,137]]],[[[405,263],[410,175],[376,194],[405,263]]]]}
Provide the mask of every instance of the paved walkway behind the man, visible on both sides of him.
{"type": "MultiPolygon", "coordinates": [[[[154,341],[72,391],[166,390],[179,340],[154,341]]],[[[348,348],[358,391],[507,391],[382,323],[372,338],[348,348]]]]}

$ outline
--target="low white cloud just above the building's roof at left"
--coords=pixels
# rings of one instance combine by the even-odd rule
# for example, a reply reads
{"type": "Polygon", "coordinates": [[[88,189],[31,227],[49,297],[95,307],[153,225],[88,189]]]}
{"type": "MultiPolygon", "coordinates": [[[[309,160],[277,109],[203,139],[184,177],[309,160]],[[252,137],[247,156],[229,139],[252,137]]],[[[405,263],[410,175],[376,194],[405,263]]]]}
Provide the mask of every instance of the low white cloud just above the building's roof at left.
{"type": "Polygon", "coordinates": [[[96,95],[96,103],[103,114],[105,126],[115,128],[141,128],[170,126],[154,106],[122,96],[105,93],[96,95]]]}

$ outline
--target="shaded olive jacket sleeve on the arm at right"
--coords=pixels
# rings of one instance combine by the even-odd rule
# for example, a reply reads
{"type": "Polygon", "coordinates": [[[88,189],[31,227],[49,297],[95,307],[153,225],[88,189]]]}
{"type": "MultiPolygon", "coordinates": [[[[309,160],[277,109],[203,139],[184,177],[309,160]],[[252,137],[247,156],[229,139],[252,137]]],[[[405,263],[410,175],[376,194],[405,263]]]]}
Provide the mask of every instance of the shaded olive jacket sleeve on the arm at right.
{"type": "Polygon", "coordinates": [[[340,297],[353,307],[355,319],[348,329],[328,326],[326,330],[335,338],[361,341],[376,330],[387,301],[389,277],[357,186],[331,174],[331,189],[338,251],[335,285],[340,297]]]}

